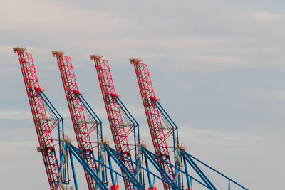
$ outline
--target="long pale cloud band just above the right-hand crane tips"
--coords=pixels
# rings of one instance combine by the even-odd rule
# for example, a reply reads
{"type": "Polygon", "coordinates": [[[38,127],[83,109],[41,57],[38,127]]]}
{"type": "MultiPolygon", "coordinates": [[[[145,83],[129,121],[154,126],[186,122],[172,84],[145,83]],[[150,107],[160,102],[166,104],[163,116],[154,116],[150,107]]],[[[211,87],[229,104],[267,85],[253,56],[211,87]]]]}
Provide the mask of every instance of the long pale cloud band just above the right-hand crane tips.
{"type": "MultiPolygon", "coordinates": [[[[167,59],[162,63],[163,68],[177,70],[209,70],[222,67],[240,67],[248,65],[247,60],[239,58],[238,51],[232,44],[242,41],[234,38],[193,37],[193,38],[115,38],[110,40],[81,41],[86,48],[95,46],[102,51],[112,46],[116,51],[112,57],[127,60],[127,58],[140,57],[144,60],[167,59]],[[174,63],[175,61],[175,63],[174,63]]],[[[106,58],[108,59],[108,58],[106,58]]],[[[114,63],[112,63],[114,64],[114,63]]],[[[120,63],[125,64],[125,63],[120,63]]]]}

